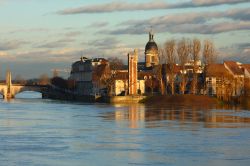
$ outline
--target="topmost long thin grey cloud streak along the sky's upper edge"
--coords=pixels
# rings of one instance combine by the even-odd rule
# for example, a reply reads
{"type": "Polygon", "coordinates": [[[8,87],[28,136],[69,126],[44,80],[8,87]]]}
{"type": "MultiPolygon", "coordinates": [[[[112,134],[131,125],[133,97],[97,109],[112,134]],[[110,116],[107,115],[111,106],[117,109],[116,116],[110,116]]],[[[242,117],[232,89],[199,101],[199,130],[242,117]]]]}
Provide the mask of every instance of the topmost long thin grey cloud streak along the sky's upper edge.
{"type": "Polygon", "coordinates": [[[98,5],[89,5],[78,8],[64,9],[58,11],[61,15],[86,14],[86,13],[109,13],[121,11],[138,11],[138,10],[160,10],[160,9],[177,9],[177,8],[196,8],[207,7],[223,4],[238,4],[249,2],[249,0],[192,0],[180,3],[166,3],[162,0],[155,0],[146,3],[129,3],[126,1],[113,1],[98,5]]]}

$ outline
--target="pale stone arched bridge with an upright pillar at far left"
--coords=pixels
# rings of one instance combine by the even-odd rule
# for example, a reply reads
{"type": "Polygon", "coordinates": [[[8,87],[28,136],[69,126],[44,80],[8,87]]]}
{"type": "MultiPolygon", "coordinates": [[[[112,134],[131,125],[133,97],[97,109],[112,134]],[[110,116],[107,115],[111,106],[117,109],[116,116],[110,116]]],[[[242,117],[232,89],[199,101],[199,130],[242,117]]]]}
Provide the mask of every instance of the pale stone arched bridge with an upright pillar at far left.
{"type": "Polygon", "coordinates": [[[4,99],[15,98],[16,94],[24,91],[35,91],[44,95],[47,90],[47,85],[12,84],[10,72],[7,72],[6,83],[0,84],[0,94],[4,99]]]}

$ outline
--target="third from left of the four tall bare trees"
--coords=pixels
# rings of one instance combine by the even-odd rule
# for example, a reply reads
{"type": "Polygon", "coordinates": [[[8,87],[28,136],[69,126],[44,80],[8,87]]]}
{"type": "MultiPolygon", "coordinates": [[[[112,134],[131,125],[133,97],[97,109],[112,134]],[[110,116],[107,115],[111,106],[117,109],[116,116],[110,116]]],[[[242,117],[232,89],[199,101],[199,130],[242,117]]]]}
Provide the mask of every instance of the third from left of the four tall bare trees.
{"type": "Polygon", "coordinates": [[[198,61],[201,52],[201,42],[198,39],[193,39],[191,47],[191,59],[193,60],[193,80],[191,83],[191,91],[193,94],[197,93],[197,83],[198,83],[198,61]]]}

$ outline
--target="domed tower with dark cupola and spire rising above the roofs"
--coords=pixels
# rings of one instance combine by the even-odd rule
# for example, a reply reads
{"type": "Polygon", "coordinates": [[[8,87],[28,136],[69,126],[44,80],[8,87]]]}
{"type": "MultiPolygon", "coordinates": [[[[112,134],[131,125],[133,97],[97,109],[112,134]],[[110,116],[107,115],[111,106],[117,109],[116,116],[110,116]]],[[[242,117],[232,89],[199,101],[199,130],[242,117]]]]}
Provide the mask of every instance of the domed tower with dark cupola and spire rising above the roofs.
{"type": "Polygon", "coordinates": [[[152,67],[159,64],[159,51],[157,44],[154,41],[152,30],[149,32],[149,41],[145,47],[145,66],[152,67]]]}

